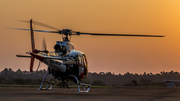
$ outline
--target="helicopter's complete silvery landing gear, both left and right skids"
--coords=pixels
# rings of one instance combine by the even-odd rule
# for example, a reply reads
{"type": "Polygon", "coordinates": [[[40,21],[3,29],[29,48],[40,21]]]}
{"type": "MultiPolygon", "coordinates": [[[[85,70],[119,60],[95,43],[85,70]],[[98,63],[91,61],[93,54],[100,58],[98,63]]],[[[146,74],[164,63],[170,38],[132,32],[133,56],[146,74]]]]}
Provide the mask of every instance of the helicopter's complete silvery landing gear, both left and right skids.
{"type": "MultiPolygon", "coordinates": [[[[50,73],[50,74],[52,74],[52,73],[50,73]]],[[[52,81],[53,79],[55,79],[55,78],[52,78],[52,79],[50,79],[49,81],[45,81],[45,78],[46,78],[48,75],[50,75],[50,74],[46,74],[46,75],[43,77],[43,80],[41,81],[41,86],[39,87],[38,90],[48,90],[48,89],[52,89],[54,83],[52,83],[51,81],[52,81]],[[42,88],[44,82],[47,82],[46,88],[42,88]],[[49,84],[51,84],[50,87],[49,87],[49,84]]],[[[81,93],[81,92],[82,92],[82,93],[83,93],[83,92],[89,92],[91,85],[89,85],[89,84],[84,84],[84,83],[80,83],[79,80],[77,79],[77,77],[74,76],[74,75],[69,75],[69,76],[71,76],[71,77],[73,77],[73,78],[76,79],[77,87],[78,87],[78,93],[81,93]],[[82,90],[82,91],[81,91],[81,89],[80,89],[79,86],[83,86],[83,90],[82,90]],[[85,89],[86,86],[88,87],[87,90],[85,89]]],[[[58,85],[60,86],[60,88],[67,86],[67,87],[70,89],[69,85],[68,85],[66,82],[61,82],[61,83],[59,83],[58,85]]]]}

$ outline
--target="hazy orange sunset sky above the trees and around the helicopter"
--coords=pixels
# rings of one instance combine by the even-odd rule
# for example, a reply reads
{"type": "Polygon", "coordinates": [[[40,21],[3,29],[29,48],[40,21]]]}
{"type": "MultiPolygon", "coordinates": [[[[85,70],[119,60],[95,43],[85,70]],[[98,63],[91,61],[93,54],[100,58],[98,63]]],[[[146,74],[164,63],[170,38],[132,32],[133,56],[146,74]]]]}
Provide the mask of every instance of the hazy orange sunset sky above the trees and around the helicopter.
{"type": "MultiPolygon", "coordinates": [[[[31,51],[30,32],[7,28],[27,29],[28,23],[17,20],[31,18],[58,29],[166,36],[72,36],[76,49],[88,57],[89,72],[180,72],[180,0],[1,0],[0,70],[29,70],[30,59],[15,55],[31,51]]],[[[34,29],[52,30],[37,25],[34,29]]],[[[53,51],[61,35],[35,32],[37,49],[43,38],[53,51]]]]}

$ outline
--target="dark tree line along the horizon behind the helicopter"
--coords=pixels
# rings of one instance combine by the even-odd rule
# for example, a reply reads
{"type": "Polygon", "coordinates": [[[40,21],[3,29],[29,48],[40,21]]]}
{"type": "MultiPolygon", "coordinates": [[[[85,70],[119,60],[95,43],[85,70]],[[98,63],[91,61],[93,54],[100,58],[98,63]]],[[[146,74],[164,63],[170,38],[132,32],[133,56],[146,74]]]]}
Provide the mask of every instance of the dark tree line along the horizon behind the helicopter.
{"type": "MultiPolygon", "coordinates": [[[[47,73],[45,69],[29,73],[26,70],[21,71],[18,69],[14,71],[11,68],[5,68],[0,72],[0,84],[37,85],[40,84],[40,79],[47,73]]],[[[47,79],[50,78],[52,76],[48,76],[47,79]]],[[[88,76],[82,81],[95,86],[165,86],[163,80],[180,80],[180,73],[177,71],[162,71],[156,74],[146,72],[143,74],[129,72],[125,74],[89,72],[88,76]]]]}

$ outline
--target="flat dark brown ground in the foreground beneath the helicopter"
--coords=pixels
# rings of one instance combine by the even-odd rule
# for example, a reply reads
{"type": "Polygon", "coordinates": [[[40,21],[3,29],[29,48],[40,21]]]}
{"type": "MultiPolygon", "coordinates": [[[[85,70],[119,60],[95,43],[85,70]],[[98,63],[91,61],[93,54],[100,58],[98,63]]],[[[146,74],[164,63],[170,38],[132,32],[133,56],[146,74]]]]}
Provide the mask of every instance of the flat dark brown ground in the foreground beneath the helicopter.
{"type": "Polygon", "coordinates": [[[0,101],[180,101],[180,88],[118,87],[91,88],[77,93],[77,88],[0,87],[0,101]]]}

